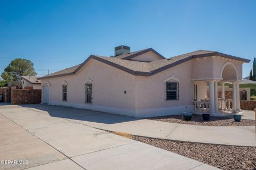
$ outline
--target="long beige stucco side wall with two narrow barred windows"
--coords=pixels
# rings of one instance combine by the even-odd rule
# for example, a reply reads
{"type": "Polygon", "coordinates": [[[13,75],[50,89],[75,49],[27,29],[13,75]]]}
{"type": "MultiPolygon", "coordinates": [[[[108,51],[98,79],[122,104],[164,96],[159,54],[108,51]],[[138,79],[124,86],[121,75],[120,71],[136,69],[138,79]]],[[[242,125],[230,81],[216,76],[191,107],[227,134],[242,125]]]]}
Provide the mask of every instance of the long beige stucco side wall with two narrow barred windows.
{"type": "Polygon", "coordinates": [[[84,107],[94,110],[97,110],[97,107],[98,110],[101,110],[100,107],[105,107],[106,112],[108,108],[125,109],[127,113],[131,114],[134,112],[134,75],[97,60],[91,60],[75,75],[42,80],[42,84],[45,81],[49,81],[51,84],[50,104],[84,107]],[[85,103],[84,83],[89,79],[93,81],[92,104],[85,103]],[[68,83],[67,101],[61,100],[61,85],[63,82],[68,83]],[[126,94],[124,91],[126,91],[126,94]]]}

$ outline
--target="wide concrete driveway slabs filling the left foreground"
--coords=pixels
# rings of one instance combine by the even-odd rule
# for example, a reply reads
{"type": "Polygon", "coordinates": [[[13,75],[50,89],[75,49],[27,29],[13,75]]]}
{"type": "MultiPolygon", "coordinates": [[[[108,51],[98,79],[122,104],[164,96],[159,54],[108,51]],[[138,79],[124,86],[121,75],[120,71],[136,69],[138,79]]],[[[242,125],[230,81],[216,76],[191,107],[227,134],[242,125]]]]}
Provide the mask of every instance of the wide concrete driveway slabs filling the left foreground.
{"type": "Polygon", "coordinates": [[[0,106],[0,160],[24,162],[0,169],[218,169],[65,117],[107,114],[35,106],[0,106]]]}

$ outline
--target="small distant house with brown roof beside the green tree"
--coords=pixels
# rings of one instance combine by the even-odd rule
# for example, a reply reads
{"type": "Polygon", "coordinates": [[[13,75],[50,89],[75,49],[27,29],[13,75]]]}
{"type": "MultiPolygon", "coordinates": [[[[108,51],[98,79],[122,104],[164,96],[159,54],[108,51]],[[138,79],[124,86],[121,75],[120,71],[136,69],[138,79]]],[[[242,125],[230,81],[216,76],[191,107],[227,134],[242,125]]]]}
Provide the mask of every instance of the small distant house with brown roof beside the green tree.
{"type": "Polygon", "coordinates": [[[41,80],[35,76],[21,76],[22,89],[41,89],[41,80]]]}

